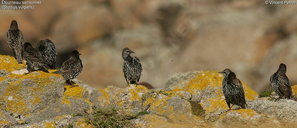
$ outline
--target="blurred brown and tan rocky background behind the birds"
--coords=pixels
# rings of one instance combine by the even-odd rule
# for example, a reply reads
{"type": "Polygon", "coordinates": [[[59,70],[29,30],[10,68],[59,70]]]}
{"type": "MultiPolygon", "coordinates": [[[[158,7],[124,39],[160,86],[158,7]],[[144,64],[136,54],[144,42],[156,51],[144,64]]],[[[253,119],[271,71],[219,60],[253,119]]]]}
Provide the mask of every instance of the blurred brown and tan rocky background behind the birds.
{"type": "MultiPolygon", "coordinates": [[[[52,40],[58,64],[83,55],[78,79],[94,88],[125,87],[121,52],[143,65],[140,82],[165,87],[168,76],[230,68],[255,91],[270,87],[280,63],[296,84],[296,5],[262,0],[42,0],[34,10],[0,11],[0,54],[12,55],[6,32],[17,20],[24,42],[52,40]]],[[[59,68],[59,67],[58,67],[59,68]]]]}

